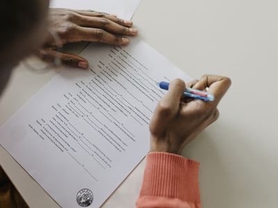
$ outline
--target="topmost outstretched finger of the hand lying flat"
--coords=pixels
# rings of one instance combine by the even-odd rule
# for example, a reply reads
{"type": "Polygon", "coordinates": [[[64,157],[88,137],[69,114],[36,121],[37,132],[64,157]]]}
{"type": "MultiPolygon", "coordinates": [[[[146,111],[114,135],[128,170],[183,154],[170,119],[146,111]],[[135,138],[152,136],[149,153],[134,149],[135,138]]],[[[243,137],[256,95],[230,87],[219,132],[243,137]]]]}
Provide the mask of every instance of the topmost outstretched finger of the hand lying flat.
{"type": "Polygon", "coordinates": [[[79,15],[83,15],[83,16],[87,16],[87,17],[103,17],[106,19],[109,19],[111,21],[114,21],[117,24],[120,24],[122,26],[126,26],[126,27],[131,27],[133,25],[133,22],[130,20],[126,20],[126,19],[120,19],[117,18],[116,15],[108,15],[107,13],[104,12],[91,12],[91,11],[86,11],[86,10],[74,10],[74,12],[76,12],[79,15]]]}

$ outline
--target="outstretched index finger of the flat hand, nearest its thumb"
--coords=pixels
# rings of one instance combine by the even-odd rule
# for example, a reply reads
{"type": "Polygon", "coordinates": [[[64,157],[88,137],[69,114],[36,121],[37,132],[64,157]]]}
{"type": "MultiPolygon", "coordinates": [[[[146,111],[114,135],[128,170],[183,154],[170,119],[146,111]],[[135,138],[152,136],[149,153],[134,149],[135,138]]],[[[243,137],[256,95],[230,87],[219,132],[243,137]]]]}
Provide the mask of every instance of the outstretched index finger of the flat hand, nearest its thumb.
{"type": "Polygon", "coordinates": [[[81,26],[77,26],[76,30],[78,31],[77,34],[79,35],[79,40],[81,41],[102,42],[114,45],[129,44],[129,38],[122,37],[120,35],[113,35],[104,31],[103,29],[83,28],[81,26]]]}

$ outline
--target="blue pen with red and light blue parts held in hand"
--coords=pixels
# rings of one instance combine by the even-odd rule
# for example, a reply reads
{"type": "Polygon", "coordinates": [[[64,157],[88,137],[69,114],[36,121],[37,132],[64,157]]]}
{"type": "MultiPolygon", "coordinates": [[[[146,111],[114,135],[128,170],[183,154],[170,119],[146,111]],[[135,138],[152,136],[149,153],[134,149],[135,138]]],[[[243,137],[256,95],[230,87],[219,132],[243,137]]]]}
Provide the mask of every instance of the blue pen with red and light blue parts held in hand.
{"type": "MultiPolygon", "coordinates": [[[[157,83],[157,85],[161,89],[168,90],[170,83],[160,82],[160,83],[157,83]]],[[[204,92],[204,91],[201,91],[201,90],[198,90],[198,89],[189,88],[189,87],[186,87],[186,89],[184,90],[183,94],[185,96],[190,97],[190,98],[200,99],[200,100],[206,101],[206,102],[214,100],[213,94],[209,94],[208,92],[204,92]]]]}

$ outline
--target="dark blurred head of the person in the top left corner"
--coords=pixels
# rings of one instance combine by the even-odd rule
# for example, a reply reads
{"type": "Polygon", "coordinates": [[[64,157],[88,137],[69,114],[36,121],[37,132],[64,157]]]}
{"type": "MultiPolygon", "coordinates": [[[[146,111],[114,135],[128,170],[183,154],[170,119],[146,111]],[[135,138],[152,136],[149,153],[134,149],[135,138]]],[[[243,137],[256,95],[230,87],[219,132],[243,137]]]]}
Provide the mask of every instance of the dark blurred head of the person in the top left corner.
{"type": "Polygon", "coordinates": [[[0,94],[13,67],[44,41],[48,6],[49,0],[0,1],[0,94]]]}

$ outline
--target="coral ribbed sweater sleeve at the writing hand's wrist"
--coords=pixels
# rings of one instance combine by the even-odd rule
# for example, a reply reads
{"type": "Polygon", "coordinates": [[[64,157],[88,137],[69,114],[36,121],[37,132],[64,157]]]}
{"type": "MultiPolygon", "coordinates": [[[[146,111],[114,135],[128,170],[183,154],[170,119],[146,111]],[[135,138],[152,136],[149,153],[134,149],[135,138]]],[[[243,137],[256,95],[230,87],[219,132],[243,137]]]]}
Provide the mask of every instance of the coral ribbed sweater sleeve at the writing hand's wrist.
{"type": "Polygon", "coordinates": [[[137,208],[200,208],[199,162],[170,153],[149,153],[137,208]]]}

